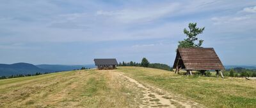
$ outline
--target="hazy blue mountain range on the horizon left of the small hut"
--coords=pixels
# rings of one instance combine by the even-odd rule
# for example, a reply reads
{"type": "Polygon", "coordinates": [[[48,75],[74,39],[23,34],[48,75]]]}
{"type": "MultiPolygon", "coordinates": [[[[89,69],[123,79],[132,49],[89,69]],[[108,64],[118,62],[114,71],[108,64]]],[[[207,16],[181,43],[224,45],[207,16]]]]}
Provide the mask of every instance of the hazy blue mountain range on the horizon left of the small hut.
{"type": "Polygon", "coordinates": [[[60,72],[81,69],[81,67],[94,68],[95,65],[33,65],[28,63],[0,64],[0,76],[12,76],[17,74],[36,74],[36,72],[60,72]]]}

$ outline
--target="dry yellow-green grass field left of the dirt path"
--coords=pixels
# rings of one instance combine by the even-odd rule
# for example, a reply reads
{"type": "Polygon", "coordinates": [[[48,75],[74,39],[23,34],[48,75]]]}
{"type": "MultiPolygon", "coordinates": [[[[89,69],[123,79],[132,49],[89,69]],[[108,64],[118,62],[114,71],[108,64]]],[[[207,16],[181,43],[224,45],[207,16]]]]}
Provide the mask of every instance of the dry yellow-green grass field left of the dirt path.
{"type": "Polygon", "coordinates": [[[132,91],[114,77],[88,70],[2,79],[0,107],[134,107],[132,91]]]}

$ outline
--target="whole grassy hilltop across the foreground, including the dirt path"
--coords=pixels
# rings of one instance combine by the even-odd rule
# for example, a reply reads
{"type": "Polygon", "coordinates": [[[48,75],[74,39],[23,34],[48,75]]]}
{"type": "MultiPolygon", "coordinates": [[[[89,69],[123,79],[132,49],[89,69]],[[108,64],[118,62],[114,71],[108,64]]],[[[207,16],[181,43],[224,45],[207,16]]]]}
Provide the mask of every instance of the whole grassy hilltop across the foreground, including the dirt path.
{"type": "Polygon", "coordinates": [[[0,80],[0,107],[256,107],[256,81],[145,67],[0,80]]]}

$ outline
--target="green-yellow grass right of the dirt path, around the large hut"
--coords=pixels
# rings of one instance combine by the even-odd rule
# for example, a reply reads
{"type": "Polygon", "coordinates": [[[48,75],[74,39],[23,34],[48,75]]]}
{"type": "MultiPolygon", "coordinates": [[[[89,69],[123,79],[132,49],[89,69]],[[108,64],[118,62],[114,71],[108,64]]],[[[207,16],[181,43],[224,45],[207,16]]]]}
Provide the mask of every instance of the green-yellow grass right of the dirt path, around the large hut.
{"type": "Polygon", "coordinates": [[[207,107],[256,107],[256,81],[244,78],[180,76],[174,72],[144,67],[118,67],[116,71],[180,94],[207,107]]]}

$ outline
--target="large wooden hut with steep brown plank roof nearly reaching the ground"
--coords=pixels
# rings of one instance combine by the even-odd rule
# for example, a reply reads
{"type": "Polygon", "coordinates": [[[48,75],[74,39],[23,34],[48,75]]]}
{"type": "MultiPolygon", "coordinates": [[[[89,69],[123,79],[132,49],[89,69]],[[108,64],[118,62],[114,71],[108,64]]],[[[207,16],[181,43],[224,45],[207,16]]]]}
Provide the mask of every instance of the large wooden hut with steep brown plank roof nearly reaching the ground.
{"type": "Polygon", "coordinates": [[[191,71],[204,74],[205,71],[215,70],[216,75],[220,73],[223,78],[221,70],[225,68],[213,48],[178,48],[173,69],[178,74],[180,69],[184,69],[190,75],[191,71]]]}

